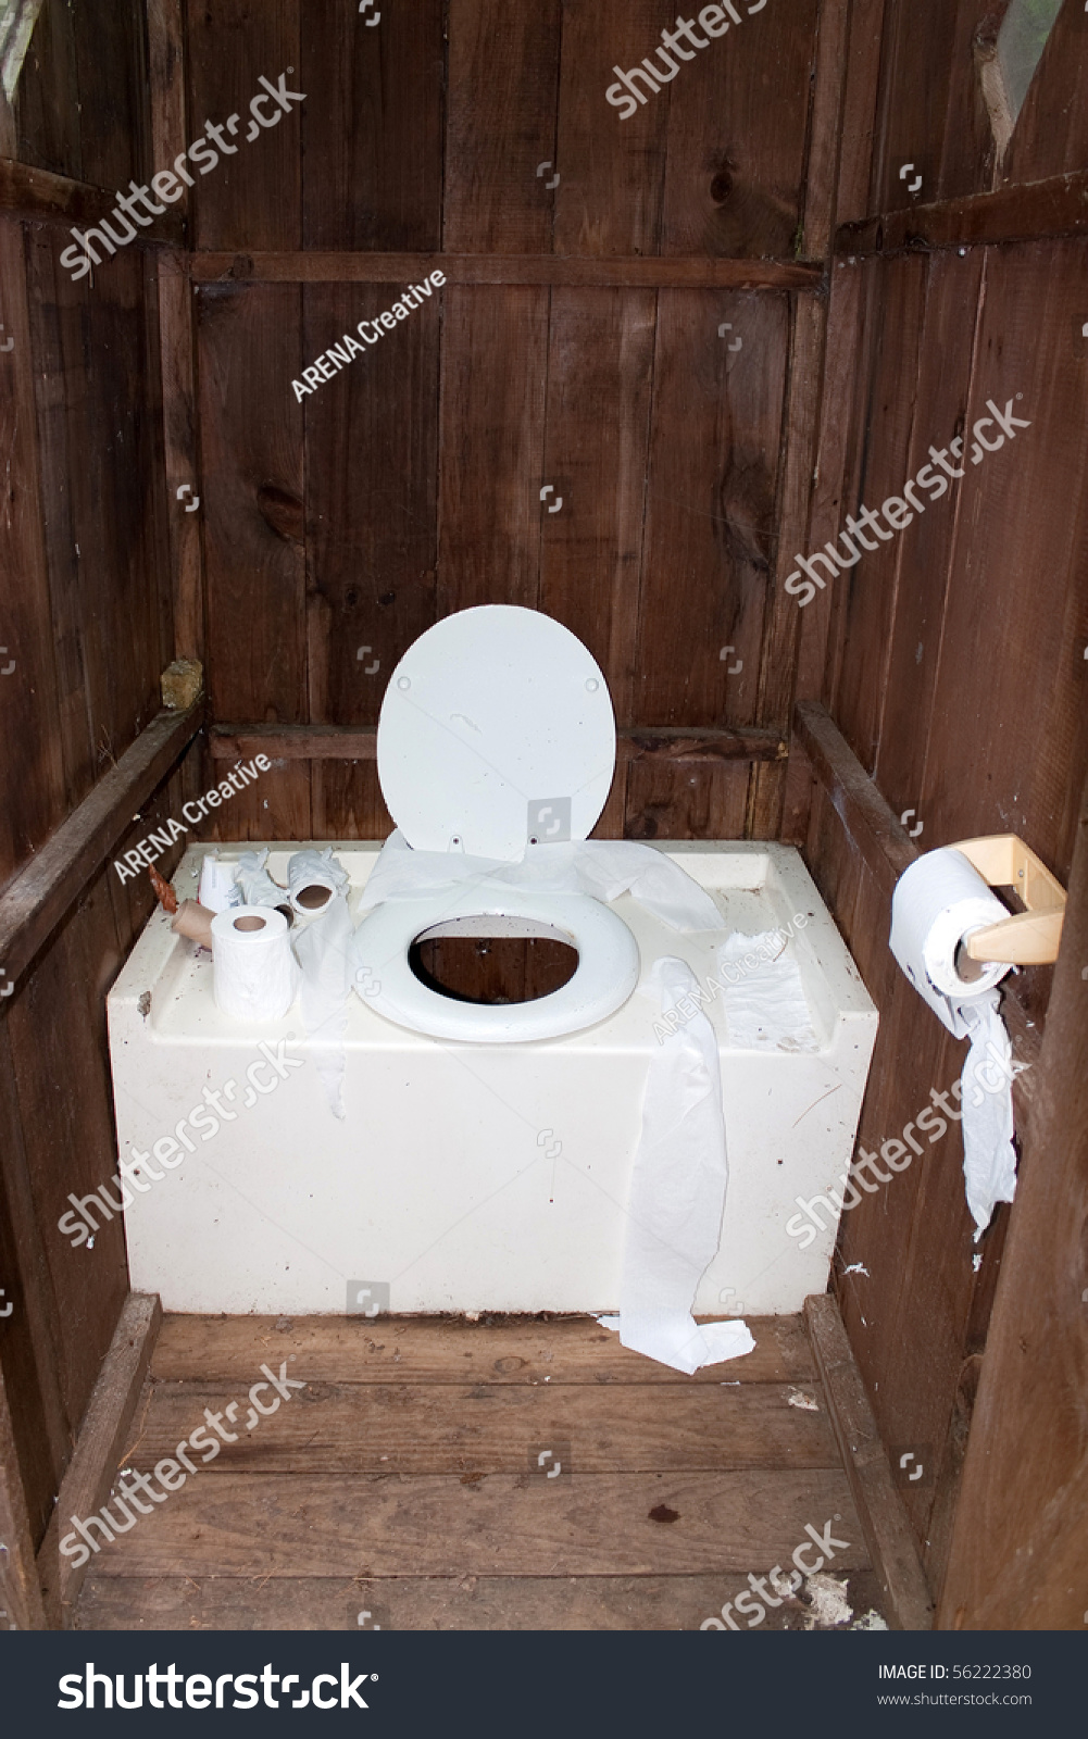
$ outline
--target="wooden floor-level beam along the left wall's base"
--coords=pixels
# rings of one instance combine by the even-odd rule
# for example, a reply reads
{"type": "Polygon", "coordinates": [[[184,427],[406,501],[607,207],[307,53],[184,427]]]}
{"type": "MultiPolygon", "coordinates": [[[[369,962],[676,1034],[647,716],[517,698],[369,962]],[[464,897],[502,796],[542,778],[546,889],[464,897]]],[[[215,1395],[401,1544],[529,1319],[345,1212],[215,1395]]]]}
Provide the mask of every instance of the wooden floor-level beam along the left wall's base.
{"type": "Polygon", "coordinates": [[[122,1306],[56,1509],[38,1549],[38,1574],[50,1629],[70,1628],[71,1607],[87,1569],[85,1563],[75,1569],[71,1558],[61,1555],[61,1539],[71,1529],[73,1516],[85,1522],[109,1501],[160,1327],[158,1294],[130,1292],[122,1306]]]}

